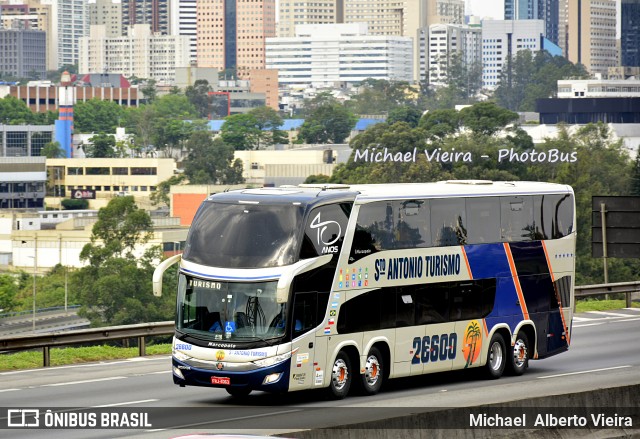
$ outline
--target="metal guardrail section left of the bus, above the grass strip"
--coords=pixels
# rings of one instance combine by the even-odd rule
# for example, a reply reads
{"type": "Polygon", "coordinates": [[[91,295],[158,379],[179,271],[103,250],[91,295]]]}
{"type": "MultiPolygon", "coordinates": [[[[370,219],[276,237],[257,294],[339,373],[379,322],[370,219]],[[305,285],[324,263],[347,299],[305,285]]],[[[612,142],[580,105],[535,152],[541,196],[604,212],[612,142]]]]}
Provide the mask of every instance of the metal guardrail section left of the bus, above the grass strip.
{"type": "Polygon", "coordinates": [[[21,335],[12,338],[0,338],[0,351],[19,351],[42,348],[44,367],[51,365],[50,348],[68,346],[96,341],[138,339],[138,352],[146,355],[146,337],[172,335],[174,322],[140,323],[126,326],[109,326],[105,328],[80,329],[68,332],[49,332],[36,335],[21,335]]]}

